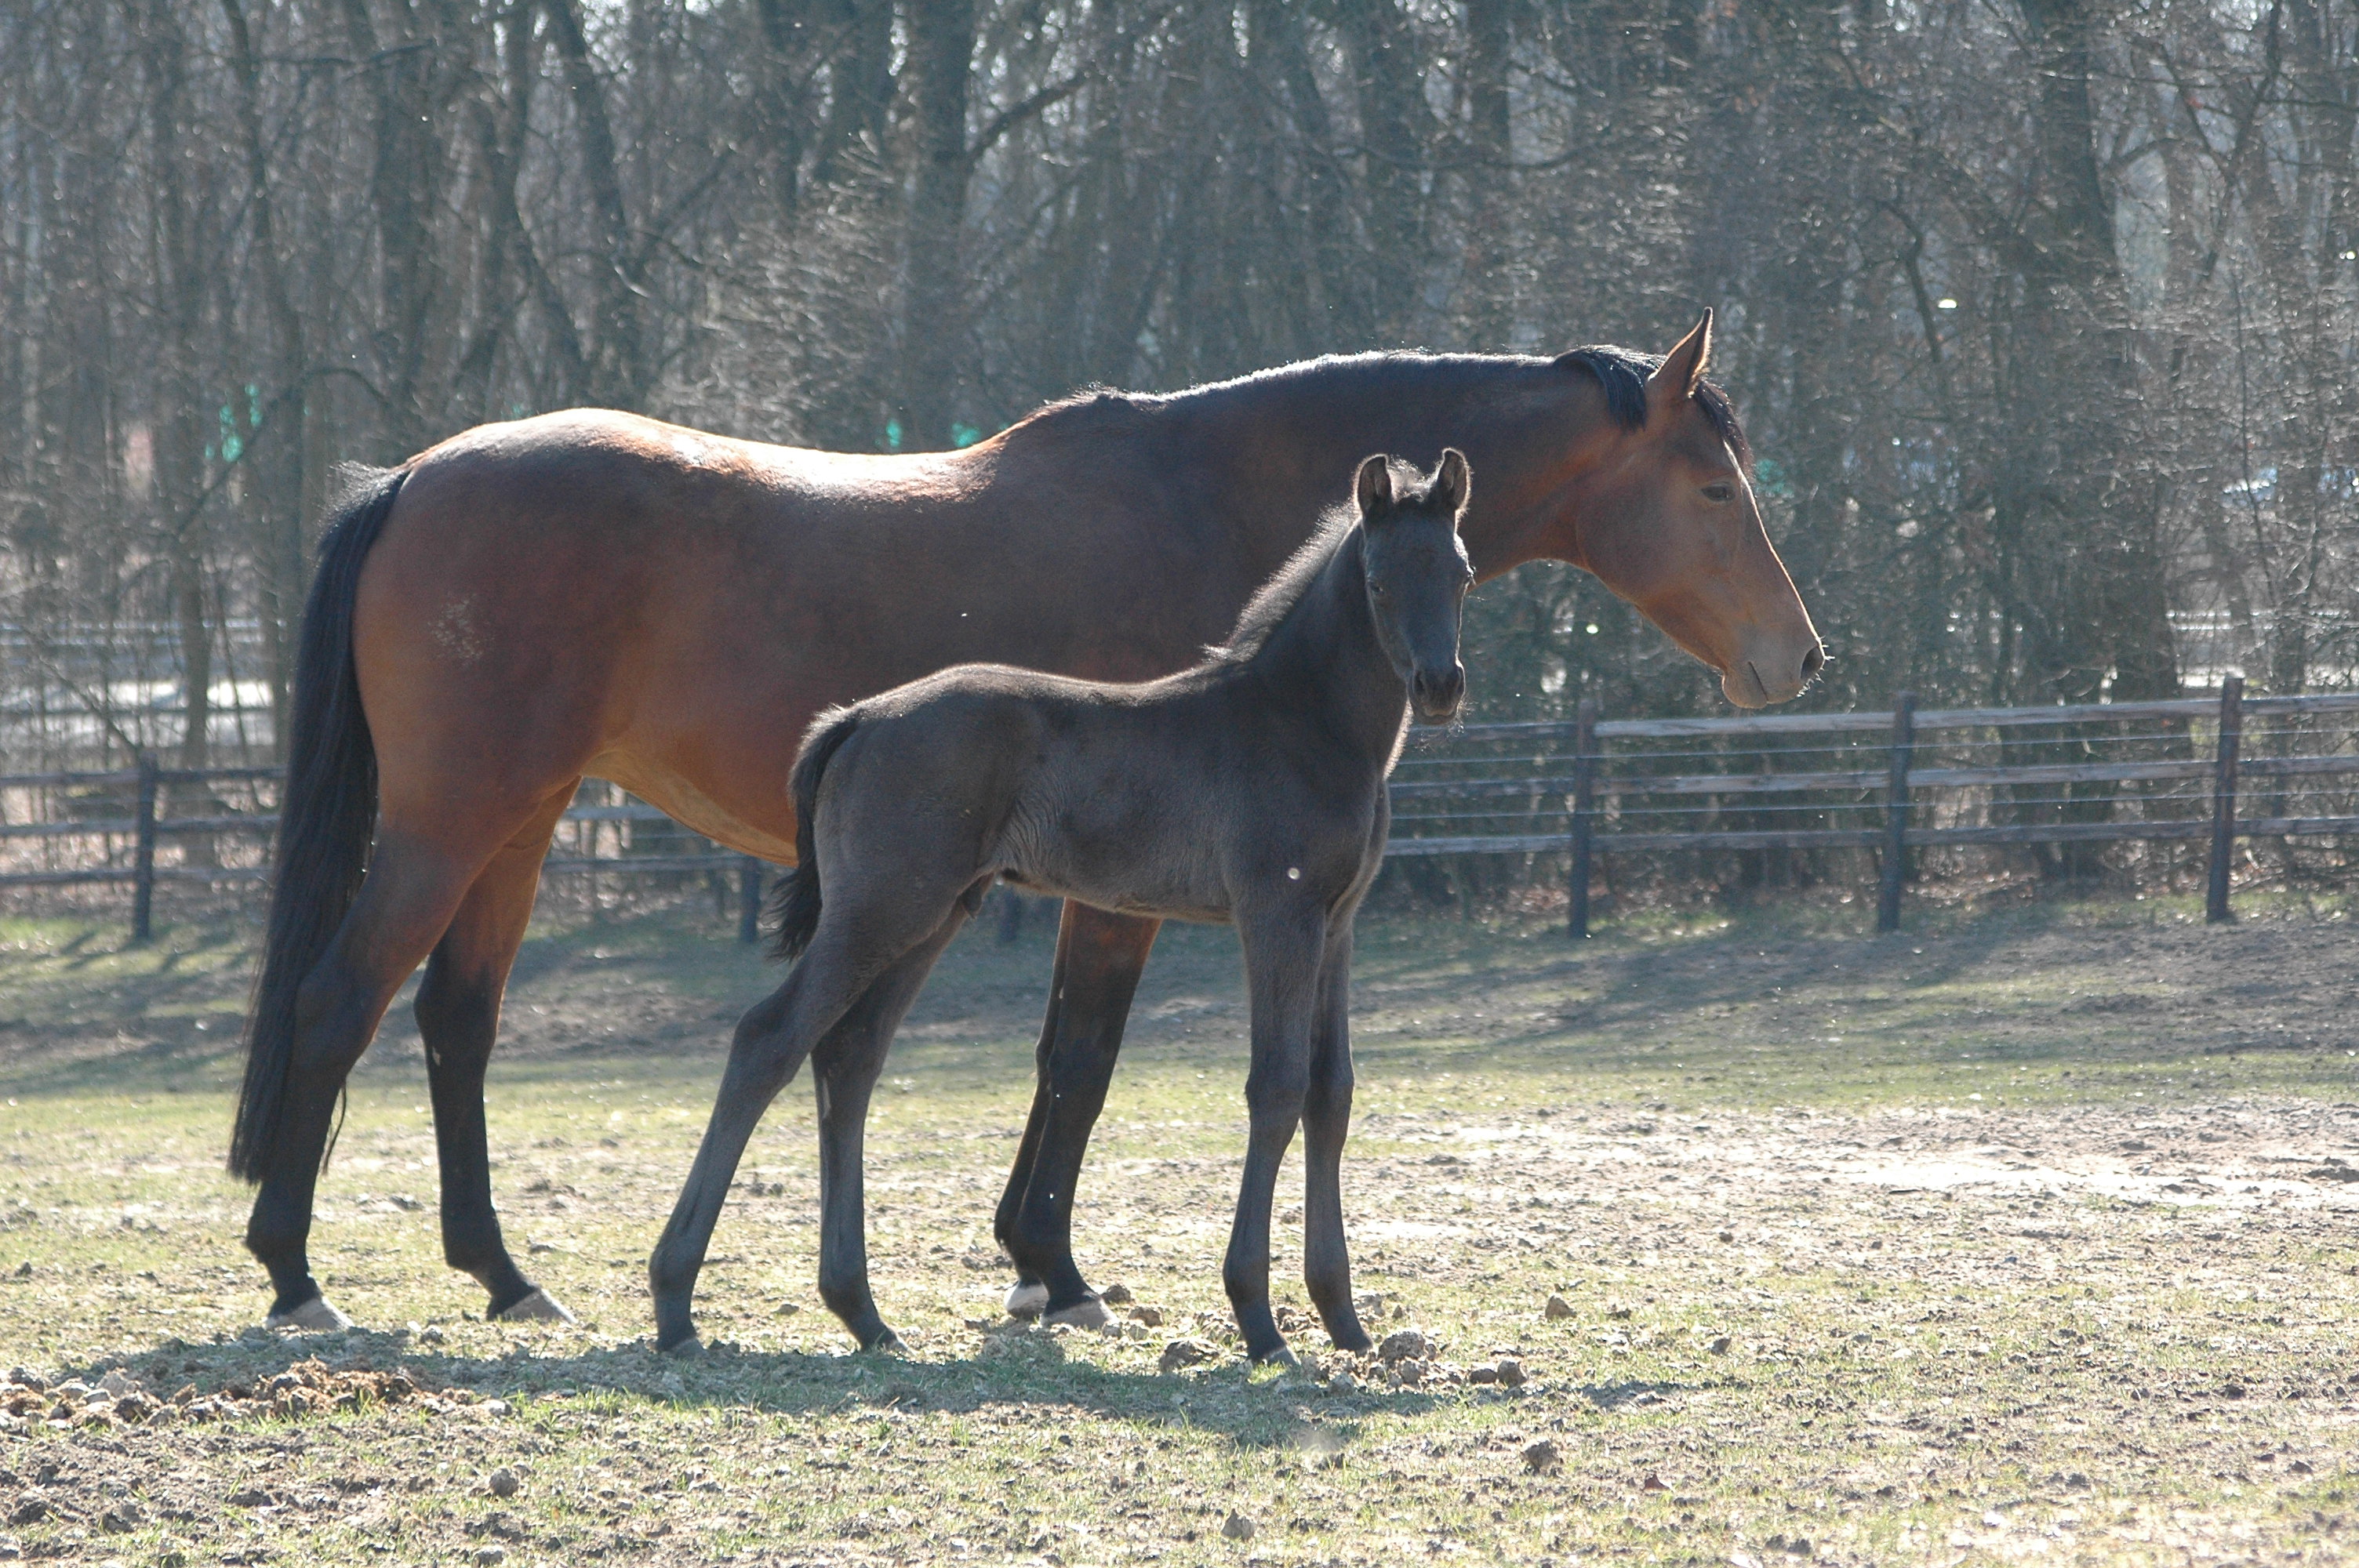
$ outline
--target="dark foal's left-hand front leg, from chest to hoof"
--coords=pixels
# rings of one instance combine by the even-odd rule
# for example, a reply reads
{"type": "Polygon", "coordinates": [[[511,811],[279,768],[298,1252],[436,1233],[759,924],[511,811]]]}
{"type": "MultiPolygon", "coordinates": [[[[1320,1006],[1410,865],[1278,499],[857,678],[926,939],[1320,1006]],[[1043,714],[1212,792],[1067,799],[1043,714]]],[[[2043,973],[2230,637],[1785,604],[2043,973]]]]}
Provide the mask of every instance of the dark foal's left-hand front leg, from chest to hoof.
{"type": "Polygon", "coordinates": [[[1222,1283],[1236,1327],[1253,1361],[1290,1361],[1286,1337],[1269,1313],[1269,1205],[1279,1188],[1279,1162],[1295,1139],[1312,1078],[1312,1030],[1319,1007],[1319,971],[1328,946],[1328,917],[1316,905],[1238,910],[1246,946],[1246,990],[1253,1002],[1253,1068],[1246,1075],[1246,1177],[1229,1226],[1222,1283]]]}

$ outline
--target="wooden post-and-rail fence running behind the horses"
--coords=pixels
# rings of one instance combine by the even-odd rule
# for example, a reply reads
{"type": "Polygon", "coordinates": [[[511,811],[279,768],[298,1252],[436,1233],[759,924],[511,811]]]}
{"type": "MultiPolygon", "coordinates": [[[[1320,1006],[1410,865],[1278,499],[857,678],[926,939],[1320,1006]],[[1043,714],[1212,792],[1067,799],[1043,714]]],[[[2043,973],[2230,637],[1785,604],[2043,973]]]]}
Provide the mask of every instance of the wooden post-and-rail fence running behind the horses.
{"type": "MultiPolygon", "coordinates": [[[[1894,929],[1911,851],[2210,839],[2206,910],[2210,920],[2227,920],[2229,858],[2239,839],[2359,837],[2359,785],[2342,792],[2309,788],[2312,780],[2359,778],[2359,726],[2333,733],[2302,729],[2335,714],[2359,717],[2359,693],[2246,698],[2236,677],[2217,698],[2078,707],[1918,710],[1904,693],[1892,712],[1602,719],[1595,703],[1583,703],[1569,724],[1470,724],[1413,747],[1392,783],[1389,854],[1566,854],[1569,924],[1585,936],[1590,879],[1609,854],[1871,851],[1878,861],[1878,927],[1894,929]],[[2255,731],[2255,724],[2265,729],[2255,731]],[[2199,745],[2199,729],[2206,726],[2210,743],[2199,745]],[[1974,740],[1977,733],[1996,740],[1974,740]],[[2269,738],[2274,755],[2253,755],[2255,736],[2269,738]],[[1996,745],[1998,759],[1934,759],[1920,766],[1930,752],[1972,752],[1977,745],[1996,745]],[[2173,755],[2100,757],[2107,747],[2173,755]],[[2076,757],[2026,755],[2057,750],[2076,757]],[[2239,816],[2239,790],[2262,797],[2253,816],[2239,816]],[[2300,802],[2321,795],[2333,795],[2331,809],[2300,809],[2300,802]],[[1991,821],[1967,821],[1974,816],[1991,821]],[[1819,823],[1805,825],[1807,818],[1819,823]],[[1835,818],[1849,821],[1833,825],[1835,818]],[[1500,821],[1517,821],[1524,830],[1481,830],[1500,821]]],[[[73,804],[99,802],[109,809],[87,818],[52,811],[38,821],[0,821],[0,846],[21,844],[5,854],[21,858],[40,851],[54,861],[42,842],[111,842],[106,861],[94,865],[0,868],[0,887],[130,884],[134,934],[146,938],[158,882],[269,877],[264,863],[160,865],[156,851],[165,839],[243,835],[264,839],[267,858],[276,811],[259,804],[222,811],[217,792],[226,785],[259,790],[276,778],[276,769],[184,771],[156,762],[111,773],[0,773],[0,802],[64,790],[73,804]],[[167,792],[189,785],[210,809],[163,813],[158,804],[167,792]],[[106,797],[125,790],[127,813],[106,797]],[[120,858],[125,842],[127,861],[120,858]]],[[[262,799],[259,792],[255,799],[262,799]]],[[[613,837],[623,839],[632,825],[670,823],[656,806],[632,799],[576,802],[561,821],[587,830],[578,837],[587,839],[590,854],[552,854],[543,863],[547,872],[717,872],[736,884],[741,931],[750,941],[762,887],[757,861],[694,835],[703,851],[663,854],[656,846],[656,854],[597,854],[599,825],[616,825],[613,837]]]]}

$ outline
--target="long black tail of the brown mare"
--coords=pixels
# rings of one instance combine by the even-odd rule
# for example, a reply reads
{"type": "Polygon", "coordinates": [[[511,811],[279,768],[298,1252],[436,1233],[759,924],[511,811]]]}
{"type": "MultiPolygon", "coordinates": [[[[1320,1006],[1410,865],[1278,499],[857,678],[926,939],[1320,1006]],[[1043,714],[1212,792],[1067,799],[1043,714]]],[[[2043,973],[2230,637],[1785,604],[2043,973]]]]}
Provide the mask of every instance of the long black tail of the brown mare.
{"type": "Polygon", "coordinates": [[[318,545],[318,575],[302,611],[288,778],[278,802],[278,872],[245,1026],[245,1087],[229,1134],[229,1170],[248,1181],[271,1172],[295,1054],[295,993],[344,924],[377,830],[377,747],[351,663],[351,601],[361,561],[406,476],[408,469],[344,469],[344,495],[318,545]]]}

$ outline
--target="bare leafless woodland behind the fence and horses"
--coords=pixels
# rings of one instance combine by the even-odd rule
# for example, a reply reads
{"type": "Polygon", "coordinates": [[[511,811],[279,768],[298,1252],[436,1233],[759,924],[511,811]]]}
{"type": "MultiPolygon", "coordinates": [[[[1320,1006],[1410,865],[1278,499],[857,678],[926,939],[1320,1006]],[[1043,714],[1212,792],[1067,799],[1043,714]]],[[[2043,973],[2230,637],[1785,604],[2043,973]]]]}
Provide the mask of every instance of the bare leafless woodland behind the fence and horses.
{"type": "MultiPolygon", "coordinates": [[[[0,0],[0,747],[269,762],[347,457],[1330,351],[1715,377],[1807,698],[2350,679],[2354,0],[0,0]]],[[[1571,568],[1477,717],[1713,712],[1571,568]]]]}

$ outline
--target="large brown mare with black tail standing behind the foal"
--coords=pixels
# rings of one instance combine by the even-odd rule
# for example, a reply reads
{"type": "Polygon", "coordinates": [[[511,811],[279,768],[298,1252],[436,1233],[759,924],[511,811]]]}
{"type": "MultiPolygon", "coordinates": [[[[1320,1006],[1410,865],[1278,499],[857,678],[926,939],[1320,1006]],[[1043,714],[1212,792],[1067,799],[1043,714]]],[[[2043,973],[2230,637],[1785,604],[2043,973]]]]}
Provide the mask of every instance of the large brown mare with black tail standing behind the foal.
{"type": "MultiPolygon", "coordinates": [[[[1795,696],[1824,655],[1762,533],[1746,443],[1663,361],[1326,358],[1172,396],[1085,394],[960,453],[854,457],[618,413],[486,424],[370,474],[304,611],[262,979],[231,1170],[271,1320],[337,1325],[307,1261],[337,1092],[408,974],[443,1257],[493,1316],[554,1316],[491,1205],[484,1066],[540,858],[583,776],[793,863],[811,714],[960,663],[1090,679],[1191,665],[1340,500],[1361,453],[1481,472],[1481,578],[1597,573],[1720,672],[1795,696]],[[363,872],[366,868],[366,872],[363,872]]],[[[1000,1203],[1014,1306],[1097,1309],[1073,1181],[1156,922],[1066,905],[1040,1089],[1000,1203]]],[[[859,1016],[840,1028],[861,1028],[859,1016]]]]}

